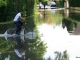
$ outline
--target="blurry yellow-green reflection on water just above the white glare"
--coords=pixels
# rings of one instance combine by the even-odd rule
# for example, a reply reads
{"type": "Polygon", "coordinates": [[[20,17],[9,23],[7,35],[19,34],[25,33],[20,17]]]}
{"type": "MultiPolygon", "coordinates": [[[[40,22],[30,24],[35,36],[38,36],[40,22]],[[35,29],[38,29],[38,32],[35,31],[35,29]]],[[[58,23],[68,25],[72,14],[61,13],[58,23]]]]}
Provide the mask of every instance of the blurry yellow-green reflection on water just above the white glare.
{"type": "Polygon", "coordinates": [[[59,14],[60,11],[58,10],[45,10],[45,11],[40,11],[39,16],[37,16],[38,20],[36,23],[37,24],[42,24],[42,23],[47,23],[47,24],[60,24],[62,21],[62,14],[59,14]]]}

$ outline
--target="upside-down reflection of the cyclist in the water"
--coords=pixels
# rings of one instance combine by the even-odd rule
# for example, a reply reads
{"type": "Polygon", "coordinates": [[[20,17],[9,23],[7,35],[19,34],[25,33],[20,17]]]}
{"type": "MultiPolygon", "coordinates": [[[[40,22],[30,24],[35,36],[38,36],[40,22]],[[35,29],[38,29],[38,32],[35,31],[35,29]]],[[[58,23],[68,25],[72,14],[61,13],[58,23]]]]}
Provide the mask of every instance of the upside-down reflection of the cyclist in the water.
{"type": "Polygon", "coordinates": [[[16,38],[16,45],[14,48],[15,53],[18,55],[18,57],[23,58],[25,56],[25,51],[21,51],[20,49],[23,48],[23,41],[20,39],[20,37],[15,37],[16,38]]]}

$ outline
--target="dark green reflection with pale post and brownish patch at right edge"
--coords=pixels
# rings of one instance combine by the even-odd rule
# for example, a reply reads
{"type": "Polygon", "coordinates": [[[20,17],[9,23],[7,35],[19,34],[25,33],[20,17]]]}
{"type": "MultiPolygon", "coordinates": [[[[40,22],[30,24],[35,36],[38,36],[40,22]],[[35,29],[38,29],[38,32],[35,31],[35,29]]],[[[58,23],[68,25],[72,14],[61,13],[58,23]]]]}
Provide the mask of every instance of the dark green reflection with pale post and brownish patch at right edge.
{"type": "Polygon", "coordinates": [[[64,16],[62,20],[63,28],[67,27],[67,31],[72,35],[80,35],[80,23],[79,13],[70,12],[70,10],[64,10],[64,16]]]}

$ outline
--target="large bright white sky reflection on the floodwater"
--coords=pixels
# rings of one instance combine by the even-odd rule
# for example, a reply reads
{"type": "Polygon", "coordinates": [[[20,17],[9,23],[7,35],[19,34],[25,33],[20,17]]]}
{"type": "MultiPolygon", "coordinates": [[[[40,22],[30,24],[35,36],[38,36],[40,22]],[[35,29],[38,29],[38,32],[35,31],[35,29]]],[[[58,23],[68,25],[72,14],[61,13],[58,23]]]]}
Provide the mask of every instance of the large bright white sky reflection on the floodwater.
{"type": "Polygon", "coordinates": [[[51,25],[42,24],[38,26],[40,34],[43,34],[41,39],[47,43],[47,52],[45,58],[49,56],[54,59],[55,51],[63,52],[67,50],[70,60],[79,56],[80,53],[80,36],[70,35],[66,28],[56,26],[53,28],[51,25]],[[76,49],[75,49],[76,48],[76,49]]]}

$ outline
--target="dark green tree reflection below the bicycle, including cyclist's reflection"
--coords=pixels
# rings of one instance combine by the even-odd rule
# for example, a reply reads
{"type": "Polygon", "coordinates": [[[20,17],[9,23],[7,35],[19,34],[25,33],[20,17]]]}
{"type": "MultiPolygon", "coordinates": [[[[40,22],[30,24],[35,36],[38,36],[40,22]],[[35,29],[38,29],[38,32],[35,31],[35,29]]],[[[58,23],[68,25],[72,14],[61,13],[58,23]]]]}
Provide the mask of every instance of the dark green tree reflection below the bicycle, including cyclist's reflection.
{"type": "MultiPolygon", "coordinates": [[[[12,36],[7,37],[7,41],[10,43],[10,48],[5,53],[1,52],[3,59],[10,57],[11,60],[42,60],[46,52],[46,44],[38,36],[35,39],[24,38],[24,40],[21,39],[21,36],[12,36]]],[[[7,45],[3,42],[3,46],[7,45]]]]}

